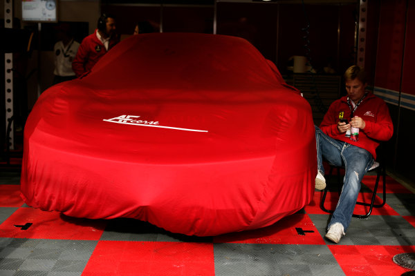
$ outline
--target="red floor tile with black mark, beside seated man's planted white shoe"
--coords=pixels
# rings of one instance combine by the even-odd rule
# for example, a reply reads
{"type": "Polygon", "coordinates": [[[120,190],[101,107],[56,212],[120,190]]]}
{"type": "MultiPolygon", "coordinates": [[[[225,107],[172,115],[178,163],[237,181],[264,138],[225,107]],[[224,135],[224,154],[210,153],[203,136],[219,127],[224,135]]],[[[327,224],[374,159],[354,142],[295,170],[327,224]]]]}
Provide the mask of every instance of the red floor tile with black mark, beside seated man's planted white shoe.
{"type": "Polygon", "coordinates": [[[272,226],[257,230],[220,235],[214,237],[213,241],[239,244],[325,244],[313,221],[305,214],[284,217],[272,226]]]}

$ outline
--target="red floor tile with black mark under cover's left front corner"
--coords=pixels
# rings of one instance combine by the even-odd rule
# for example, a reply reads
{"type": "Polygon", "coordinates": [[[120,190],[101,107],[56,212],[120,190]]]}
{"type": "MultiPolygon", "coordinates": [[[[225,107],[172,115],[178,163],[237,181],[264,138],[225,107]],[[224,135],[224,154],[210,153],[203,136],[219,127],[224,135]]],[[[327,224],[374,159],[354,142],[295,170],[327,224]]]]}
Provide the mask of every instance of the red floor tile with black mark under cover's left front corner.
{"type": "Polygon", "coordinates": [[[0,225],[0,237],[98,240],[106,224],[104,220],[76,219],[57,212],[19,208],[0,225]]]}

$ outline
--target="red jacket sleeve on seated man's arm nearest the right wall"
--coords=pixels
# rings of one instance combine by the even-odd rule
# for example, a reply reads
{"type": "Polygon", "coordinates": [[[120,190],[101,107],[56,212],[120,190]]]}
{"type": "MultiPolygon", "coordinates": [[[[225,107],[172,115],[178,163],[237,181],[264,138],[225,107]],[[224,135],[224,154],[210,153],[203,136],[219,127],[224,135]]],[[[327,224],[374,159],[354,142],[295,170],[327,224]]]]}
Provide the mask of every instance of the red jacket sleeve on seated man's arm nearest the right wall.
{"type": "Polygon", "coordinates": [[[392,123],[389,108],[385,101],[380,99],[378,106],[376,121],[365,121],[366,126],[362,131],[372,139],[387,141],[394,134],[394,124],[392,123]]]}

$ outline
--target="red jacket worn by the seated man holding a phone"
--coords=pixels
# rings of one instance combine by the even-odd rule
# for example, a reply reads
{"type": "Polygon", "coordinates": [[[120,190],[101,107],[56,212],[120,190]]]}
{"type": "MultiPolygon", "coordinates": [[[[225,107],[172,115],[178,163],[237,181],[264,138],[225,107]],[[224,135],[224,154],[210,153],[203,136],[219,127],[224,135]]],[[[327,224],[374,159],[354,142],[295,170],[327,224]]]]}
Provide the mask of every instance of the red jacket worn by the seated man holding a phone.
{"type": "Polygon", "coordinates": [[[344,96],[329,107],[320,124],[320,129],[333,139],[345,141],[351,145],[365,148],[376,159],[376,148],[380,141],[389,140],[394,133],[394,125],[389,115],[389,109],[385,101],[369,92],[354,112],[354,116],[362,117],[365,120],[365,129],[360,129],[358,141],[352,141],[340,133],[337,124],[339,113],[344,112],[344,119],[351,120],[351,109],[347,103],[347,96],[344,96]]]}

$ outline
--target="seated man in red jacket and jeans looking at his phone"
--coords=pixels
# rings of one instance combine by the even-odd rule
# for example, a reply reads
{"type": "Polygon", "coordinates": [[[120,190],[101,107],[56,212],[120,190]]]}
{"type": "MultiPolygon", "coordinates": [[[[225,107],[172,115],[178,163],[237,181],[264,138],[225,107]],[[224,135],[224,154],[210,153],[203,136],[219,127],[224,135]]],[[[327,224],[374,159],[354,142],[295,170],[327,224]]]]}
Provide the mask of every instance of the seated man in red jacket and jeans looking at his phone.
{"type": "Polygon", "coordinates": [[[394,126],[385,101],[367,92],[364,70],[351,66],[344,73],[347,96],[334,101],[315,127],[317,177],[315,188],[326,187],[322,158],[344,166],[342,193],[327,227],[326,238],[338,243],[349,227],[360,191],[360,181],[376,159],[376,147],[387,141],[394,126]],[[358,135],[356,135],[358,133],[358,135]]]}

